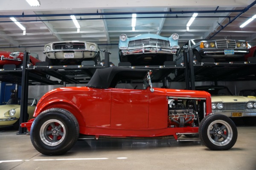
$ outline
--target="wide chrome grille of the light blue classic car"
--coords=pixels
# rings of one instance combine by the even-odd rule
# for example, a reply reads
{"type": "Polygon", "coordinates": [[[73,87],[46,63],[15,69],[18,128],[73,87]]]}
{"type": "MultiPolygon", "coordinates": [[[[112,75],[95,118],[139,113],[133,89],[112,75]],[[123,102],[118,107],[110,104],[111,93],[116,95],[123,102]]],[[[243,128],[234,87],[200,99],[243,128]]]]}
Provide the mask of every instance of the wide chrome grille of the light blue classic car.
{"type": "Polygon", "coordinates": [[[128,47],[141,47],[141,46],[160,46],[160,47],[170,47],[170,42],[166,40],[158,40],[153,38],[143,39],[143,40],[134,40],[130,41],[128,47]]]}

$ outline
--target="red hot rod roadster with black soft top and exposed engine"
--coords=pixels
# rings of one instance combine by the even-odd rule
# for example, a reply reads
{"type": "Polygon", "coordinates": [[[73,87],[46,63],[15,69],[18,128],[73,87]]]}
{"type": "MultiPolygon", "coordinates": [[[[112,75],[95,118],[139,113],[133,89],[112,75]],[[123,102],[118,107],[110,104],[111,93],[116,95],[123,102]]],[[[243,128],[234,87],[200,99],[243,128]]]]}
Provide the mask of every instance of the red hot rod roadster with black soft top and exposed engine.
{"type": "Polygon", "coordinates": [[[35,119],[22,123],[33,146],[45,155],[66,153],[81,136],[95,139],[171,139],[199,134],[211,150],[228,150],[237,129],[212,114],[205,91],[153,88],[150,70],[113,66],[97,69],[86,87],[57,88],[38,102],[35,119]],[[131,82],[130,87],[124,82],[131,82]],[[131,87],[134,83],[134,86],[131,87]]]}

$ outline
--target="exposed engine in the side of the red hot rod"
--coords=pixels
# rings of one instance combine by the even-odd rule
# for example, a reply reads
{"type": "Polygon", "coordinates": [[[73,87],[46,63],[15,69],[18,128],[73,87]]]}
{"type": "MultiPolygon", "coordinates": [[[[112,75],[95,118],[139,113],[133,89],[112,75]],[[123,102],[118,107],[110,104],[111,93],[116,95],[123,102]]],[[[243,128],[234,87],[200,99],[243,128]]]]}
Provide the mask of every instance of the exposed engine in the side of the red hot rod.
{"type": "Polygon", "coordinates": [[[199,125],[198,99],[168,99],[168,126],[169,127],[195,127],[199,125]]]}

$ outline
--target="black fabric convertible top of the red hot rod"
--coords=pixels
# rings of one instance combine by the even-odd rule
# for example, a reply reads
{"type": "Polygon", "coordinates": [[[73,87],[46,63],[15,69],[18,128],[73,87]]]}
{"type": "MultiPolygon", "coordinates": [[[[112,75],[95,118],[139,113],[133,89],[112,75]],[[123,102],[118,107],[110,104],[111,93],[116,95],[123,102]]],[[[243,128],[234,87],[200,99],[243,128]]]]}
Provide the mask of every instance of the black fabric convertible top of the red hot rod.
{"type": "Polygon", "coordinates": [[[150,70],[118,66],[98,68],[86,86],[90,88],[114,88],[116,83],[122,79],[143,79],[148,71],[150,70]]]}

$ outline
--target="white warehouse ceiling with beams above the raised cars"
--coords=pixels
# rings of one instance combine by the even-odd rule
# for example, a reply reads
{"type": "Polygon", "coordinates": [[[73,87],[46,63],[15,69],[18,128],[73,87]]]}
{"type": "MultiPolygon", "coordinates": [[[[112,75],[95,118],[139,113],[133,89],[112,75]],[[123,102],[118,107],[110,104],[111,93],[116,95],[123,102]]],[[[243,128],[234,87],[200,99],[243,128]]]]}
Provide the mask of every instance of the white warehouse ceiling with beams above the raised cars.
{"type": "Polygon", "coordinates": [[[31,7],[26,0],[0,0],[0,48],[44,46],[49,42],[63,40],[96,42],[100,48],[111,48],[118,44],[121,34],[134,37],[148,32],[163,37],[177,33],[180,43],[190,39],[227,37],[247,40],[256,45],[256,20],[244,28],[239,28],[244,21],[256,14],[256,5],[247,10],[248,6],[256,3],[254,0],[40,2],[41,6],[31,7]],[[199,13],[198,17],[189,27],[189,31],[186,31],[186,23],[194,12],[199,13]],[[132,13],[137,13],[135,31],[131,28],[132,13]],[[55,15],[49,16],[51,14],[55,15]],[[81,18],[80,33],[77,33],[70,14],[75,14],[77,19],[81,18]],[[11,16],[26,28],[26,35],[11,22],[11,16]],[[219,31],[221,27],[224,29],[219,31]]]}

